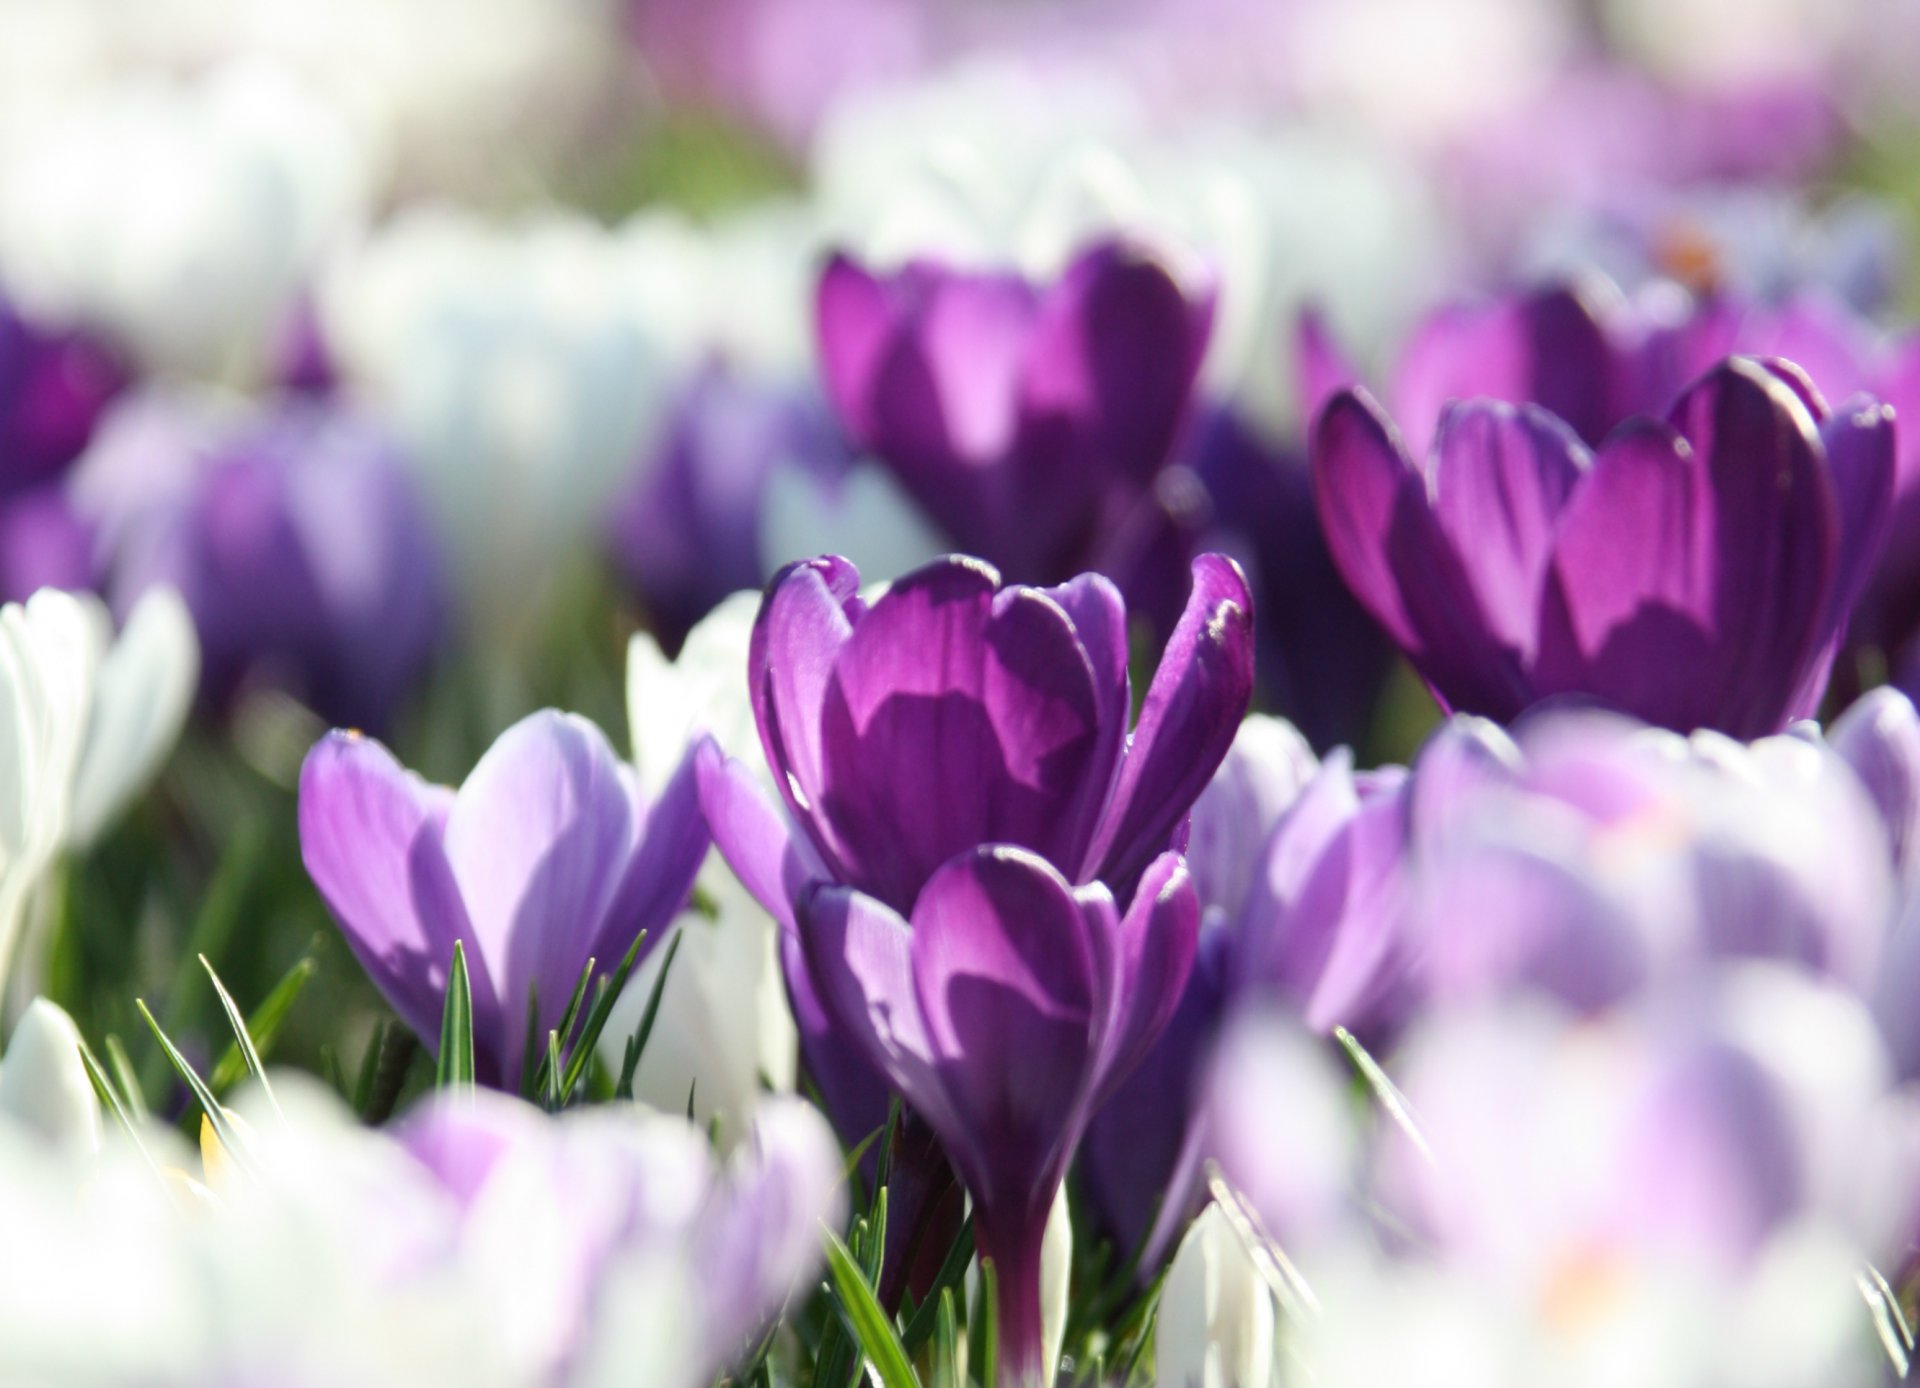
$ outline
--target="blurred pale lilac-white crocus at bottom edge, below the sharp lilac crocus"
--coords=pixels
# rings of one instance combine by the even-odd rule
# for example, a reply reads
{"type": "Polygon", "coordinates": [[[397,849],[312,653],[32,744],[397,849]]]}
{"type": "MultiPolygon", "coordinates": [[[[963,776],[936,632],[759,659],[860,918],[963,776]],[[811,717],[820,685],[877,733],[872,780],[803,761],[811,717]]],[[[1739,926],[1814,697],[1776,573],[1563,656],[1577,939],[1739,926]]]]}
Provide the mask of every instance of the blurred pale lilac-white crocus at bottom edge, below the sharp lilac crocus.
{"type": "Polygon", "coordinates": [[[845,1209],[822,1117],[770,1098],[733,1158],[634,1106],[547,1117],[505,1094],[438,1094],[396,1129],[451,1196],[455,1256],[501,1317],[520,1382],[705,1384],[751,1350],[845,1209]],[[636,1355],[639,1355],[636,1359],[636,1355]]]}

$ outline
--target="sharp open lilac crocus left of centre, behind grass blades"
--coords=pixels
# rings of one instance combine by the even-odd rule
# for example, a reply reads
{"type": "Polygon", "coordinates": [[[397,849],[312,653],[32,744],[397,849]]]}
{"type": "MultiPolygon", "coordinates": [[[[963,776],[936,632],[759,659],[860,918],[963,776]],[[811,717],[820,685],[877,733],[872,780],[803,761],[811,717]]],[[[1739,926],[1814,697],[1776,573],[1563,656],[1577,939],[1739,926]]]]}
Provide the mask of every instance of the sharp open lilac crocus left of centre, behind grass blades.
{"type": "Polygon", "coordinates": [[[599,728],[545,710],[501,733],[459,791],[328,733],[300,772],[300,847],[355,958],[428,1046],[467,943],[476,1064],[513,1089],[528,993],[545,1039],[588,960],[611,971],[641,931],[659,943],[708,835],[691,754],[649,804],[599,728]]]}

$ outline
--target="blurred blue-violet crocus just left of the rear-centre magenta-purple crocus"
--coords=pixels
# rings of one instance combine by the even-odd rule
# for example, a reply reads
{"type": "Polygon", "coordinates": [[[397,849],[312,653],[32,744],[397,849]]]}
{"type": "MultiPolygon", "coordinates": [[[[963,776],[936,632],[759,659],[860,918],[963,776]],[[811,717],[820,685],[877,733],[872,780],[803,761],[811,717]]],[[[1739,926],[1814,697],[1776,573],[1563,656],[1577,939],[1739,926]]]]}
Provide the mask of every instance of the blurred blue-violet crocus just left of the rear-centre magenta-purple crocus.
{"type": "Polygon", "coordinates": [[[810,392],[710,363],[684,388],[657,455],[612,516],[616,562],[655,632],[678,645],[728,593],[760,587],[760,509],[776,467],[839,474],[851,465],[810,392]]]}

